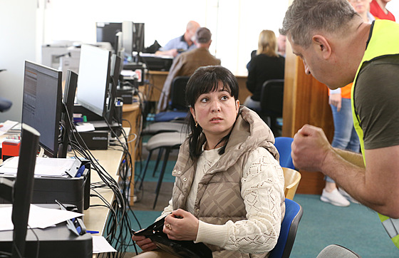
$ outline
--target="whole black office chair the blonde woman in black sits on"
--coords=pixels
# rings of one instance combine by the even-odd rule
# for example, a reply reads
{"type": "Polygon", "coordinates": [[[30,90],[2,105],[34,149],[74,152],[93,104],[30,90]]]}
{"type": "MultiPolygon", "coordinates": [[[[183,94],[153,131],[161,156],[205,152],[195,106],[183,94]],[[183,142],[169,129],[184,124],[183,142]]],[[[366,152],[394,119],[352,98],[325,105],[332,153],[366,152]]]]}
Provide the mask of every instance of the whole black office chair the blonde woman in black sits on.
{"type": "Polygon", "coordinates": [[[284,79],[265,81],[261,89],[261,118],[267,123],[274,136],[281,135],[277,118],[283,117],[284,79]],[[270,122],[269,122],[270,120],[270,122]]]}

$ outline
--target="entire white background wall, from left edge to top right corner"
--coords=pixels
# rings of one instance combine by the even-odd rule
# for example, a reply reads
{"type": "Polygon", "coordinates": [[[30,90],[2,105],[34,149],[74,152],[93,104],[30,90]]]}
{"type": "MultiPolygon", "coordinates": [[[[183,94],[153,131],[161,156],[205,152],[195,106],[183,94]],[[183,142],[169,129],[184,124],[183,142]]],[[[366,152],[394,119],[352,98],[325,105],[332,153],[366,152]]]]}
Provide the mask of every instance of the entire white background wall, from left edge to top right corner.
{"type": "MultiPolygon", "coordinates": [[[[145,23],[145,46],[165,45],[198,21],[213,33],[210,51],[233,73],[245,68],[262,29],[276,34],[289,0],[2,0],[0,96],[14,105],[0,121],[21,120],[24,61],[41,61],[41,45],[56,40],[95,42],[96,21],[145,23]]],[[[399,19],[399,1],[388,9],[399,19]]]]}

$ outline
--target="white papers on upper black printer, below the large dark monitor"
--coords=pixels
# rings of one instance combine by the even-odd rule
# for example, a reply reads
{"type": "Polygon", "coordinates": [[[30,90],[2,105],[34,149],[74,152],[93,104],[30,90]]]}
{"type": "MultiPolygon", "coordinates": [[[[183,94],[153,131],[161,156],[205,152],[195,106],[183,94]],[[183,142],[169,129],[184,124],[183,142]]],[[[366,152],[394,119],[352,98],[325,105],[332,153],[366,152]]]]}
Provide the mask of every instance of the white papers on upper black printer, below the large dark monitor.
{"type": "MultiPolygon", "coordinates": [[[[0,175],[16,175],[19,157],[6,160],[0,167],[0,175]]],[[[35,177],[68,177],[75,162],[72,158],[36,158],[35,177]]]]}

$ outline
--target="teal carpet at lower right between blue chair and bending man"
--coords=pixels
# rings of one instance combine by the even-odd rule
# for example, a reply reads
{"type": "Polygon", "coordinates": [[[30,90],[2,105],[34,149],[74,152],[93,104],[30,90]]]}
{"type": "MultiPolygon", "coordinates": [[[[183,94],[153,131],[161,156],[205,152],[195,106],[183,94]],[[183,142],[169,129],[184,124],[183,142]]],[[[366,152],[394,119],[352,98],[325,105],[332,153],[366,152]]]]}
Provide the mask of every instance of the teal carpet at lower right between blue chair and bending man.
{"type": "Polygon", "coordinates": [[[399,257],[399,249],[373,210],[351,203],[336,207],[319,195],[295,195],[304,209],[291,257],[316,257],[329,244],[340,244],[361,257],[399,257]]]}

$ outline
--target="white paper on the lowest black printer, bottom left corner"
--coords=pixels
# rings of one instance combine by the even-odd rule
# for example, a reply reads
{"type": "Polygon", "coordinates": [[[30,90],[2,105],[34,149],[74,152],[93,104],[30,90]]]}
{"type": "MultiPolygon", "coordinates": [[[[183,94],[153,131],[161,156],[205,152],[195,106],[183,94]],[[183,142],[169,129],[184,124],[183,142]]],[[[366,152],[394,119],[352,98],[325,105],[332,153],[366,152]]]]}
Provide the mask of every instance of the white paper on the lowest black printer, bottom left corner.
{"type": "MultiPolygon", "coordinates": [[[[0,231],[13,230],[14,225],[11,221],[12,206],[0,207],[0,231]]],[[[70,212],[68,210],[48,209],[31,205],[29,211],[28,225],[31,228],[45,229],[58,223],[81,217],[83,214],[70,212]]]]}

